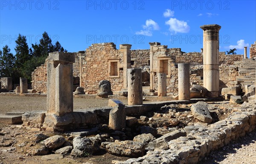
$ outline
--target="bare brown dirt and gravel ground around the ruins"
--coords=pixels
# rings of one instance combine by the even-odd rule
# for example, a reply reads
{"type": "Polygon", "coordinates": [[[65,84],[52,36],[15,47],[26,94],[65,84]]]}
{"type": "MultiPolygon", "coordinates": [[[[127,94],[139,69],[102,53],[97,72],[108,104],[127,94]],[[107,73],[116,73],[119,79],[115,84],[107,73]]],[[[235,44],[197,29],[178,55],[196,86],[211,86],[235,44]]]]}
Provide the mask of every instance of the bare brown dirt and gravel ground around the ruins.
{"type": "MultiPolygon", "coordinates": [[[[121,101],[127,104],[127,100],[121,101]]],[[[213,114],[212,117],[215,118],[215,121],[226,118],[227,115],[235,112],[239,106],[230,106],[227,101],[208,104],[212,106],[209,110],[211,114],[213,114]]],[[[106,98],[74,98],[74,111],[104,106],[108,106],[108,99],[106,98]]],[[[189,110],[190,106],[191,104],[181,104],[175,106],[176,109],[174,112],[167,112],[168,114],[160,114],[157,112],[161,111],[155,111],[156,113],[148,112],[145,115],[154,117],[156,120],[156,122],[151,124],[151,127],[164,126],[164,128],[158,129],[158,133],[164,134],[168,131],[168,127],[165,127],[165,124],[170,124],[170,122],[166,122],[169,120],[170,115],[183,123],[180,127],[196,122],[192,118],[187,118],[187,115],[191,115],[189,110]]],[[[46,98],[0,95],[0,114],[4,114],[5,112],[26,112],[33,110],[46,110],[46,98]]],[[[146,122],[140,124],[146,124],[146,122]]],[[[178,126],[179,125],[180,124],[178,124],[178,126]]],[[[30,139],[31,136],[42,132],[46,135],[54,135],[46,131],[35,131],[35,129],[21,125],[0,124],[0,164],[111,164],[112,160],[125,161],[128,159],[127,157],[111,155],[102,149],[98,154],[84,158],[73,158],[71,155],[67,155],[62,159],[44,161],[41,160],[41,156],[32,156],[26,152],[26,150],[35,146],[35,141],[30,139]],[[9,146],[10,144],[12,146],[9,146]]],[[[238,141],[232,141],[218,151],[211,152],[200,164],[256,164],[256,131],[251,132],[244,138],[240,138],[238,141]]]]}

